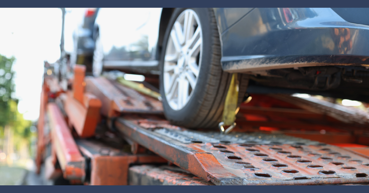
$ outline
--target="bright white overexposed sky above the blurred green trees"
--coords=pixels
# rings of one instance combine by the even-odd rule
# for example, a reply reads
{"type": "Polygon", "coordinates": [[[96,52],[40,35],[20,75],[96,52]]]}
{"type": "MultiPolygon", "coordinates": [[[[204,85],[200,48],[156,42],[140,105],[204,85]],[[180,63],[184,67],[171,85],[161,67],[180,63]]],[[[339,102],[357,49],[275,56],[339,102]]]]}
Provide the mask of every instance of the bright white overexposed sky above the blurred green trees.
{"type": "MultiPolygon", "coordinates": [[[[73,30],[85,8],[66,8],[65,50],[73,51],[73,30]]],[[[60,58],[62,11],[59,8],[0,8],[0,54],[14,56],[18,111],[35,121],[39,116],[44,61],[60,58]]]]}

